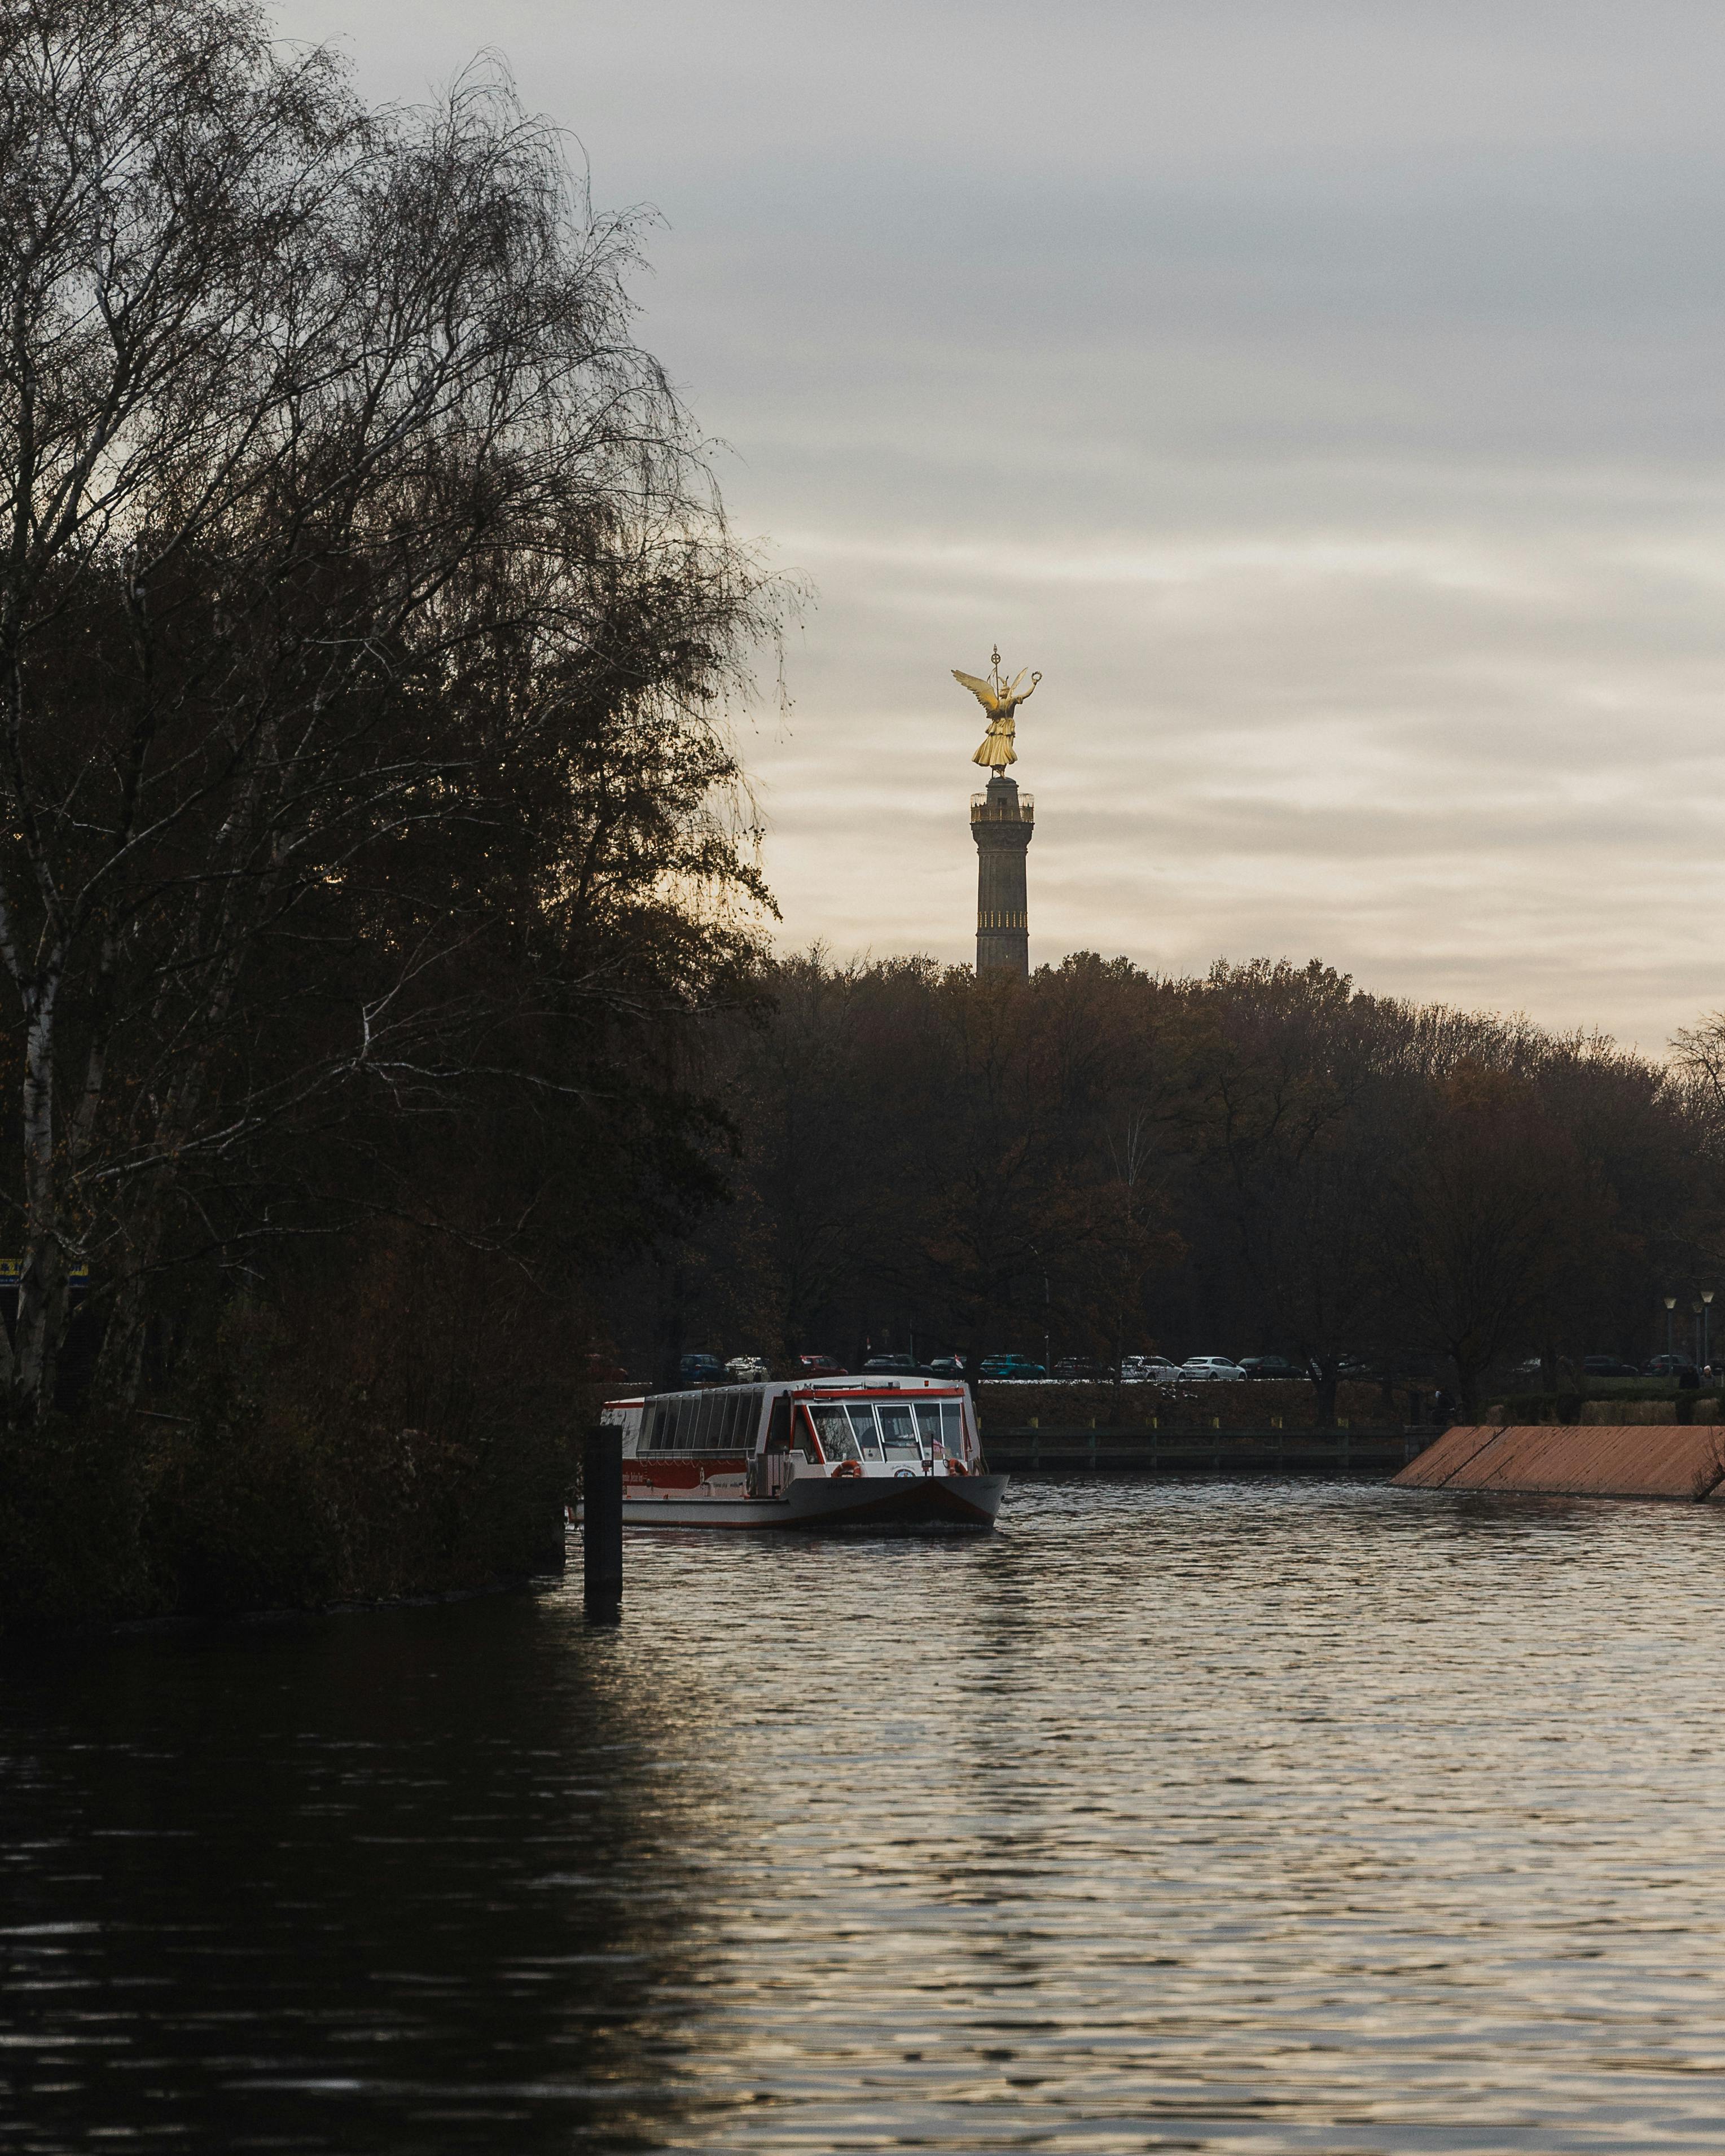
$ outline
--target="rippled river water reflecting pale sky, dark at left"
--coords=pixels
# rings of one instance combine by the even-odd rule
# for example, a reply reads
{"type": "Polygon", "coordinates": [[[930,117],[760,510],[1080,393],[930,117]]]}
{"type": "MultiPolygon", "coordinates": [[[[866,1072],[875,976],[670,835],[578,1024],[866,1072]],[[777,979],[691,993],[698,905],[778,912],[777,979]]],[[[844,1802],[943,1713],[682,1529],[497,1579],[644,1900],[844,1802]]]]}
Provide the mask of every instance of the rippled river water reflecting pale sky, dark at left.
{"type": "Polygon", "coordinates": [[[0,2150],[1725,2145],[1725,1509],[627,1567],[15,1651],[0,2150]]]}

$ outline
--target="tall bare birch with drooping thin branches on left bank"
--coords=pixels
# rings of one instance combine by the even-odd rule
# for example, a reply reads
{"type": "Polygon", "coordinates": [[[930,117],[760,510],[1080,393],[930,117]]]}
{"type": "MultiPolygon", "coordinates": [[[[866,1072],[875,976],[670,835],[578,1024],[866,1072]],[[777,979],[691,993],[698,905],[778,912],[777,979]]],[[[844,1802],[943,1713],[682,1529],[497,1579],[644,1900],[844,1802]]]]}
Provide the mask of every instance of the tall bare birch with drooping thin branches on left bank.
{"type": "Polygon", "coordinates": [[[757,895],[712,793],[761,608],[632,343],[632,231],[498,80],[380,116],[233,0],[24,0],[0,216],[30,1416],[71,1266],[125,1397],[164,1263],[304,1231],[261,1134],[556,1091],[528,1020],[638,998],[630,934],[673,985],[712,959],[690,895],[757,895]]]}

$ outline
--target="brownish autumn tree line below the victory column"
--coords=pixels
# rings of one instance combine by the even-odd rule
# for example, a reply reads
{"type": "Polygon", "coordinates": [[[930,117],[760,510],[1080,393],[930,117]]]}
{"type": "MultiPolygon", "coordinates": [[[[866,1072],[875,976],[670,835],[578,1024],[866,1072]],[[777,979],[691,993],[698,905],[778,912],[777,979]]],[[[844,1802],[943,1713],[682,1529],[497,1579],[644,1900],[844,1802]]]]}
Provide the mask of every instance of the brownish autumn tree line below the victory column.
{"type": "Polygon", "coordinates": [[[1512,1356],[1552,1386],[1589,1352],[1643,1360],[1662,1296],[1686,1328],[1712,1285],[1716,1022],[1656,1063],[1315,959],[1156,979],[1078,953],[1022,983],[811,953],[761,985],[709,1022],[731,1199],[619,1311],[662,1380],[679,1345],[854,1367],[1048,1339],[1104,1365],[1283,1352],[1322,1416],[1350,1360],[1477,1406],[1512,1356]]]}

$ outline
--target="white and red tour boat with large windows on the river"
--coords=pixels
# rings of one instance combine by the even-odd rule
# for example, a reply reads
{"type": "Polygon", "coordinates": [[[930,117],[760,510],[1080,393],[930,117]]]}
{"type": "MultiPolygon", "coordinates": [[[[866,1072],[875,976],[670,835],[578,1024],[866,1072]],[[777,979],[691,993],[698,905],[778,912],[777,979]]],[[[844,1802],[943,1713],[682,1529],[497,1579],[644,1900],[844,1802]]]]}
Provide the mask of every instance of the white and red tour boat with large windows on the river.
{"type": "Polygon", "coordinates": [[[802,1378],[610,1399],[625,1526],[992,1526],[977,1410],[938,1378],[802,1378]]]}

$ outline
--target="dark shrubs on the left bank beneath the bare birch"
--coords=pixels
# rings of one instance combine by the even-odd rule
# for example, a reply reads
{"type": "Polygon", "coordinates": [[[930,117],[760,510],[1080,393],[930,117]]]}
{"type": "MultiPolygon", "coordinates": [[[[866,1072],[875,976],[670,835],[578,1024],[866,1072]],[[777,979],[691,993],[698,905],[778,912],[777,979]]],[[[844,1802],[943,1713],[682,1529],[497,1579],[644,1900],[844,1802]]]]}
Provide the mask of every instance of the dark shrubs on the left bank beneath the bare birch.
{"type": "Polygon", "coordinates": [[[442,1238],[373,1242],[317,1294],[235,1296],[172,1412],[0,1436],[0,1623],[317,1608],[561,1565],[584,1358],[558,1345],[537,1298],[442,1238]]]}

